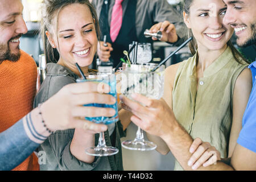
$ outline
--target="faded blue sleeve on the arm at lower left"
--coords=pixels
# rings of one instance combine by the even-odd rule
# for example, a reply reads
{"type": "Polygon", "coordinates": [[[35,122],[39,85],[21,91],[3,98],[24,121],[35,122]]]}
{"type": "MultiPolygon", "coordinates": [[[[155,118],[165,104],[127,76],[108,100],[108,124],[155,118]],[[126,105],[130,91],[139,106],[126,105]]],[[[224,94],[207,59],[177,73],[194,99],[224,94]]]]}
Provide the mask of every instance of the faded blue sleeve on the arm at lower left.
{"type": "Polygon", "coordinates": [[[28,138],[20,119],[0,133],[0,170],[11,170],[22,163],[39,146],[28,138]]]}

